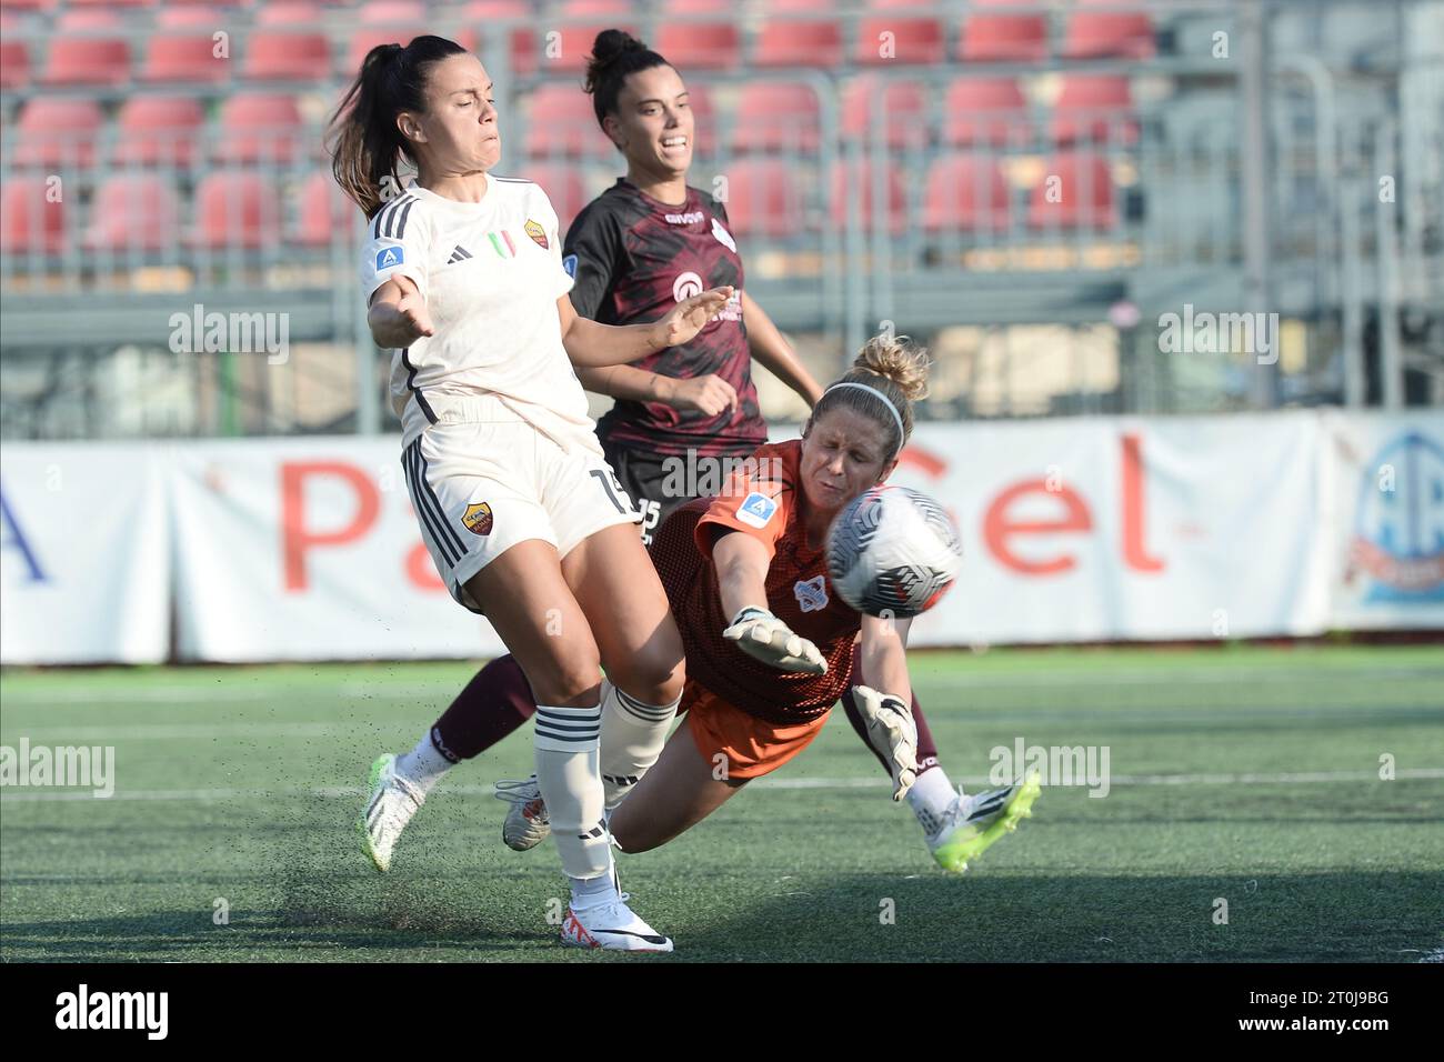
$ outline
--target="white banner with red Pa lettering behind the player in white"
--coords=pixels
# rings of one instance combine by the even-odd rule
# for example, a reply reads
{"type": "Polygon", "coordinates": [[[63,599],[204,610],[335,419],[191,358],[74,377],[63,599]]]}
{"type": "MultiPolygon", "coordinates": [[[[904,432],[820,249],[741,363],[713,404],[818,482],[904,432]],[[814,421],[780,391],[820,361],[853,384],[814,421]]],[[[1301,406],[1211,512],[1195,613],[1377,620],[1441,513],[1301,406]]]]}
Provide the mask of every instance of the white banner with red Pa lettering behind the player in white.
{"type": "Polygon", "coordinates": [[[175,457],[172,509],[185,660],[504,652],[442,585],[394,438],[191,446],[175,457]]]}

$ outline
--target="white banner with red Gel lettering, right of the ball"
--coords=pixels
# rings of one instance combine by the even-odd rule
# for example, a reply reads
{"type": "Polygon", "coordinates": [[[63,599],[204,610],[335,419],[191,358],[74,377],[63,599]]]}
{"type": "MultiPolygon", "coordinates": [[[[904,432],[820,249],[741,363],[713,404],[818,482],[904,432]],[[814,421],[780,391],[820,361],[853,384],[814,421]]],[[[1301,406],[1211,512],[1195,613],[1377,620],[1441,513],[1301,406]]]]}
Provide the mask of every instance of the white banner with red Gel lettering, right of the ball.
{"type": "Polygon", "coordinates": [[[921,425],[894,483],[965,561],[911,642],[1320,633],[1320,442],[1311,413],[921,425]]]}

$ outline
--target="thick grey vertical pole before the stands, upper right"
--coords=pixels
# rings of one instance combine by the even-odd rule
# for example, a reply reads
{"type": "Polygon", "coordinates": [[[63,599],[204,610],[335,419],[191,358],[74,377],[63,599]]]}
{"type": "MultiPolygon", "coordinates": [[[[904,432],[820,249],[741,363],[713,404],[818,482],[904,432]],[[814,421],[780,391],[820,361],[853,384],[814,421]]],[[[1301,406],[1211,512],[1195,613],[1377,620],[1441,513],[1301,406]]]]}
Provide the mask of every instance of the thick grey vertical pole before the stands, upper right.
{"type": "MultiPolygon", "coordinates": [[[[1272,309],[1272,231],[1268,175],[1272,140],[1268,127],[1268,14],[1264,3],[1243,3],[1239,12],[1239,88],[1243,94],[1243,298],[1245,309],[1272,309]]],[[[1278,337],[1274,337],[1278,342],[1278,337]]],[[[1278,350],[1269,364],[1253,358],[1253,405],[1278,406],[1278,350]]]]}

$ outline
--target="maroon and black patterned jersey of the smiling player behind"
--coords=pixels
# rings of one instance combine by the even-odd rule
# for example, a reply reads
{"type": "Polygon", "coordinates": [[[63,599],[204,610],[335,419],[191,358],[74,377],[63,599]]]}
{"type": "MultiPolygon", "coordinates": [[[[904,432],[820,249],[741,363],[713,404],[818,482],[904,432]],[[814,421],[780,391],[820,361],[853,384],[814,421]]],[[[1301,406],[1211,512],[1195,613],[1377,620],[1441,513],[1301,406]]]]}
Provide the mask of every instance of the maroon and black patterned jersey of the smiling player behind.
{"type": "Polygon", "coordinates": [[[736,389],[736,410],[708,416],[661,402],[618,400],[596,426],[604,442],[654,454],[718,455],[767,441],[742,324],[742,259],[721,202],[687,188],[687,201],[670,205],[618,178],[576,215],[562,253],[576,280],[576,312],[606,325],[658,321],[697,292],[735,289],[692,342],[632,364],[677,379],[721,376],[736,389]]]}

